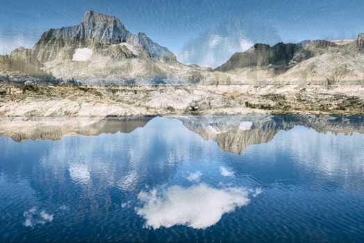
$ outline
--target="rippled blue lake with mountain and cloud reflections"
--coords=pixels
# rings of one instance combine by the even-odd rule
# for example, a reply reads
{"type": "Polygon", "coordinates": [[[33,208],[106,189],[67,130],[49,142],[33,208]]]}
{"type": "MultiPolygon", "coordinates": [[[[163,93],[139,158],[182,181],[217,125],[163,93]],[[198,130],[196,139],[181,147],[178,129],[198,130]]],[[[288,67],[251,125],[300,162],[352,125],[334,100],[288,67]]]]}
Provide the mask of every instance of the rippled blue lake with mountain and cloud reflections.
{"type": "Polygon", "coordinates": [[[0,137],[0,242],[364,242],[363,126],[146,117],[60,140],[12,133],[0,137]]]}

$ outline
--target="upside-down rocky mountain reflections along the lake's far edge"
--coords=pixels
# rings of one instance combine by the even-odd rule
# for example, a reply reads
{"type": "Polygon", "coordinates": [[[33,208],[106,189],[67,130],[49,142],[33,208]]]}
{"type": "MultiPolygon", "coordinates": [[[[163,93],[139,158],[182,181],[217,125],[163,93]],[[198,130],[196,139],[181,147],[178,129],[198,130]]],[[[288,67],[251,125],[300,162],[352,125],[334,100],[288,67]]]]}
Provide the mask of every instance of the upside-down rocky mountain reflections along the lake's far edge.
{"type": "MultiPolygon", "coordinates": [[[[131,133],[144,127],[154,117],[106,117],[74,119],[0,120],[0,135],[22,140],[60,140],[65,135],[100,135],[131,133]]],[[[330,115],[231,115],[231,116],[169,116],[178,119],[188,130],[204,140],[217,142],[220,148],[243,154],[247,146],[270,142],[280,130],[295,126],[313,128],[318,133],[364,133],[364,116],[330,115]]]]}

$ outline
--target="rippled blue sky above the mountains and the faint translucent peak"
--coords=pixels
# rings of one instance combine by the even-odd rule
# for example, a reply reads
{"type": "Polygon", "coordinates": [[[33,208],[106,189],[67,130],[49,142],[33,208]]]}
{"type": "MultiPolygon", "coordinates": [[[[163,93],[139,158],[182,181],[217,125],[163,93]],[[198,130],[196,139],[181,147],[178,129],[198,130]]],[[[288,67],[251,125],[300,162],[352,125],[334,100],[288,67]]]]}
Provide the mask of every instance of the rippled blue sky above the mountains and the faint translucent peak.
{"type": "Polygon", "coordinates": [[[364,32],[363,0],[0,0],[0,53],[32,47],[48,28],[81,22],[83,12],[114,15],[132,33],[179,53],[183,44],[230,17],[276,28],[284,42],[355,37],[364,32]]]}

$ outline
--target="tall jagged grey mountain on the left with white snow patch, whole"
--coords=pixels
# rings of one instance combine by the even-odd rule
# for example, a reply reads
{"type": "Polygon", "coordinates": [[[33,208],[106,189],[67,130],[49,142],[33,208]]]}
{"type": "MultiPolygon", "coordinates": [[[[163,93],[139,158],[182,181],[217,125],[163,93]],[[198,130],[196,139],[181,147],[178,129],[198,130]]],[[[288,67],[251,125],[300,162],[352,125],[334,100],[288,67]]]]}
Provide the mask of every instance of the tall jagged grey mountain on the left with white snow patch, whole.
{"type": "Polygon", "coordinates": [[[33,49],[0,56],[0,64],[2,73],[51,74],[85,85],[188,83],[204,70],[177,62],[144,33],[133,35],[117,17],[94,11],[76,26],[44,32],[33,49]]]}

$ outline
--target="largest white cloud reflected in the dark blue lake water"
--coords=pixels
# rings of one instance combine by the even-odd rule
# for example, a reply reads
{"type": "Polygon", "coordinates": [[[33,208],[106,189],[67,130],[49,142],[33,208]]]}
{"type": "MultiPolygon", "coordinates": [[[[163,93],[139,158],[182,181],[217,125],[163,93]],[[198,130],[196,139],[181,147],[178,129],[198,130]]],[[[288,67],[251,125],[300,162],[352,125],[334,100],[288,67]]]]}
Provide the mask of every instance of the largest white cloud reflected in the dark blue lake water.
{"type": "Polygon", "coordinates": [[[191,187],[178,185],[165,190],[140,192],[142,208],[135,208],[152,228],[184,225],[207,228],[220,221],[222,215],[249,203],[249,192],[240,187],[217,189],[204,183],[191,187]]]}

